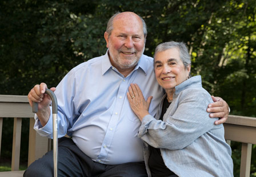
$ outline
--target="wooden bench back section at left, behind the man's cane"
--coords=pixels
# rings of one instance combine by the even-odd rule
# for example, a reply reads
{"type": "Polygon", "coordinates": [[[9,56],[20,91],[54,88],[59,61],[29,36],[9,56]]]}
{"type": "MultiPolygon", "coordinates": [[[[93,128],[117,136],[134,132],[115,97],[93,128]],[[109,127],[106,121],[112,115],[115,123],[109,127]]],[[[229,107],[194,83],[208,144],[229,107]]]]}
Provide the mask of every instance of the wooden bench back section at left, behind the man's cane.
{"type": "MultiPolygon", "coordinates": [[[[17,176],[17,172],[19,170],[19,154],[21,150],[21,127],[22,127],[22,119],[30,119],[29,126],[29,154],[28,154],[28,166],[41,158],[47,151],[50,150],[51,140],[42,137],[37,134],[34,130],[34,113],[29,106],[29,101],[27,100],[27,96],[21,95],[0,95],[0,152],[1,146],[5,144],[2,142],[2,125],[4,118],[13,118],[14,126],[13,126],[13,151],[11,158],[11,173],[2,175],[2,176],[17,176]]],[[[1,176],[0,172],[0,176],[1,176]]],[[[19,175],[18,175],[19,176],[19,175]]],[[[22,176],[22,174],[21,174],[22,176]]]]}

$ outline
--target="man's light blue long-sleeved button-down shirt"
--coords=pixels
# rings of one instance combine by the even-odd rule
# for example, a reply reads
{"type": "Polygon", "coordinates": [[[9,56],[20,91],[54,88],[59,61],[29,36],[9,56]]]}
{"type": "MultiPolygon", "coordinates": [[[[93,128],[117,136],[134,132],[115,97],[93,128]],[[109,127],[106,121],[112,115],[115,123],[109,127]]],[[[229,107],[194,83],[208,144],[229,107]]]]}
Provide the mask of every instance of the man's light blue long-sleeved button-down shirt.
{"type": "MultiPolygon", "coordinates": [[[[155,115],[163,90],[154,76],[153,58],[142,55],[135,69],[124,78],[107,53],[72,69],[57,86],[58,136],[73,136],[87,156],[104,164],[143,161],[141,122],[130,108],[127,91],[137,83],[155,115]]],[[[42,127],[35,116],[35,130],[52,137],[52,115],[42,127]]]]}

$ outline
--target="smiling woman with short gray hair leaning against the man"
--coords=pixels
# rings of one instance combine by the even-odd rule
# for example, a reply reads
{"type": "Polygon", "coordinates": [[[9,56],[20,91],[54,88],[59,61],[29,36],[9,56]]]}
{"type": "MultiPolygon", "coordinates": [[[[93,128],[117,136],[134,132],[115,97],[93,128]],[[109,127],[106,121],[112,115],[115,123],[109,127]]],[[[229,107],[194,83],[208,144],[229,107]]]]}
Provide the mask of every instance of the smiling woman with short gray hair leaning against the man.
{"type": "MultiPolygon", "coordinates": [[[[213,102],[203,89],[201,76],[189,77],[190,55],[184,43],[157,46],[155,77],[166,94],[155,118],[138,85],[131,84],[127,98],[141,120],[138,136],[144,141],[149,176],[233,176],[230,146],[223,124],[210,119],[206,107],[213,102]]],[[[150,89],[150,88],[149,88],[150,89]]]]}

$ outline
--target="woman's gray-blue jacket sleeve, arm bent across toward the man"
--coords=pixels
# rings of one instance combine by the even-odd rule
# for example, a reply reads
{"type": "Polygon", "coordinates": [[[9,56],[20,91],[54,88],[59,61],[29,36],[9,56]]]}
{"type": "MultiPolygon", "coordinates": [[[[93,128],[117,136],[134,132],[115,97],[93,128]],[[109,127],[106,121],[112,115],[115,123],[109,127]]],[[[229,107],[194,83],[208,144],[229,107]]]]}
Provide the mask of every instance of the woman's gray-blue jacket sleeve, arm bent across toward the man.
{"type": "Polygon", "coordinates": [[[138,136],[155,148],[185,148],[212,128],[222,126],[215,125],[218,118],[210,118],[206,111],[211,102],[213,100],[205,90],[184,90],[178,96],[178,106],[174,113],[170,113],[173,111],[169,107],[163,116],[164,121],[146,115],[142,119],[138,136]]]}

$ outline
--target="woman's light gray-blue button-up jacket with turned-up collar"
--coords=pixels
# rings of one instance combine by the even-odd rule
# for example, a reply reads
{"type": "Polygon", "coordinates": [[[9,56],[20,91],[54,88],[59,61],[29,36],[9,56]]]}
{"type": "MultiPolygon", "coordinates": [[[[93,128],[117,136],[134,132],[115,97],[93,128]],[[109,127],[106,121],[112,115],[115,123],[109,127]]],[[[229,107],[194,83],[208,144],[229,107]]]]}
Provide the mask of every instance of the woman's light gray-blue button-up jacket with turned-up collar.
{"type": "Polygon", "coordinates": [[[151,115],[143,118],[138,136],[144,141],[149,176],[148,144],[161,148],[165,165],[179,177],[233,176],[231,148],[224,139],[223,124],[215,125],[218,118],[210,118],[206,112],[211,102],[198,75],[175,87],[173,102],[163,121],[158,120],[163,102],[155,118],[151,115]]]}

